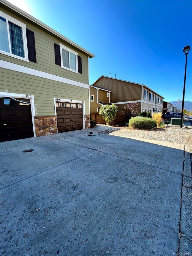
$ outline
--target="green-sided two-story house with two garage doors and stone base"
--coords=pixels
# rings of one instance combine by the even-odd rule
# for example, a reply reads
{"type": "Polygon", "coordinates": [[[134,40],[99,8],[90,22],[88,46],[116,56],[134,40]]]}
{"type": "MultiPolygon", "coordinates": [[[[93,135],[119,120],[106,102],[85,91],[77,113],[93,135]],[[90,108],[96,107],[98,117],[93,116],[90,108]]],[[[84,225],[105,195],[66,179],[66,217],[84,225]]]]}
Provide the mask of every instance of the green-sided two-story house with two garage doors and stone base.
{"type": "Polygon", "coordinates": [[[95,55],[0,2],[1,141],[88,128],[95,55]]]}

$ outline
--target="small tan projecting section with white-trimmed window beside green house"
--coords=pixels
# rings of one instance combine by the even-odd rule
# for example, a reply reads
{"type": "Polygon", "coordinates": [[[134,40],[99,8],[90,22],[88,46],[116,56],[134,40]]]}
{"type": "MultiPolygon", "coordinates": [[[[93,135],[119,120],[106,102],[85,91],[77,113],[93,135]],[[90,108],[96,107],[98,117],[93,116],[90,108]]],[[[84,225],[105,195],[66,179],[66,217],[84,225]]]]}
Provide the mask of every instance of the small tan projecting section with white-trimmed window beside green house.
{"type": "Polygon", "coordinates": [[[89,90],[91,113],[99,113],[101,106],[110,104],[111,91],[92,85],[90,85],[89,90]]]}

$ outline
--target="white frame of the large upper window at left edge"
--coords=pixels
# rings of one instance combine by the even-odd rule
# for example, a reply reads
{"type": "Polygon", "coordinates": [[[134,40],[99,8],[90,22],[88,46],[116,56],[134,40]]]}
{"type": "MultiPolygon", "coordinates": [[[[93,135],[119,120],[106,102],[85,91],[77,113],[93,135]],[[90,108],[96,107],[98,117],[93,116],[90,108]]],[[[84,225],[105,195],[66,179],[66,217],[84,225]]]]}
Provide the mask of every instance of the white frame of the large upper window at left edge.
{"type": "Polygon", "coordinates": [[[1,12],[0,16],[3,17],[4,19],[6,19],[6,23],[7,23],[7,32],[8,32],[8,41],[9,41],[9,53],[5,52],[3,50],[0,50],[0,53],[7,55],[7,56],[11,56],[13,58],[16,59],[21,59],[24,60],[26,62],[29,62],[29,57],[28,57],[28,49],[27,49],[27,35],[26,35],[26,25],[14,18],[12,18],[11,16],[1,12]],[[23,50],[24,50],[24,58],[14,55],[13,53],[11,53],[11,42],[10,42],[10,33],[9,33],[9,21],[18,25],[19,27],[21,27],[22,29],[22,37],[23,37],[23,50]]]}

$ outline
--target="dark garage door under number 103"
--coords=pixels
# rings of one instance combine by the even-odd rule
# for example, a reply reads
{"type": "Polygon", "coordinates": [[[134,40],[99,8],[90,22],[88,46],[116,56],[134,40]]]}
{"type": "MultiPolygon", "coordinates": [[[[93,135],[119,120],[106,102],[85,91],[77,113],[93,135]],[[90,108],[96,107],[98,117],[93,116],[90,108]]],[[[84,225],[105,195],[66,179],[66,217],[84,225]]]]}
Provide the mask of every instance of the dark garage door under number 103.
{"type": "MultiPolygon", "coordinates": [[[[30,102],[27,99],[19,101],[30,102]]],[[[0,98],[1,142],[33,137],[31,104],[24,104],[11,98],[0,98]]]]}

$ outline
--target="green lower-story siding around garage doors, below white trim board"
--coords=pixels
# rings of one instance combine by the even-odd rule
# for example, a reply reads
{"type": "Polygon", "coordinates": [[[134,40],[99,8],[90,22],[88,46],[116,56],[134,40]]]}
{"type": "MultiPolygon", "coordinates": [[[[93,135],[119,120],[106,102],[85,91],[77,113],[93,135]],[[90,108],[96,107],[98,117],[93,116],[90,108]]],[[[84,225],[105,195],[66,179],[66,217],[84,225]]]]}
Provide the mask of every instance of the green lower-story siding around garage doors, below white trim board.
{"type": "Polygon", "coordinates": [[[41,104],[37,116],[55,115],[53,98],[85,101],[85,115],[89,114],[88,89],[42,77],[1,68],[1,92],[34,95],[35,104],[41,104]]]}

